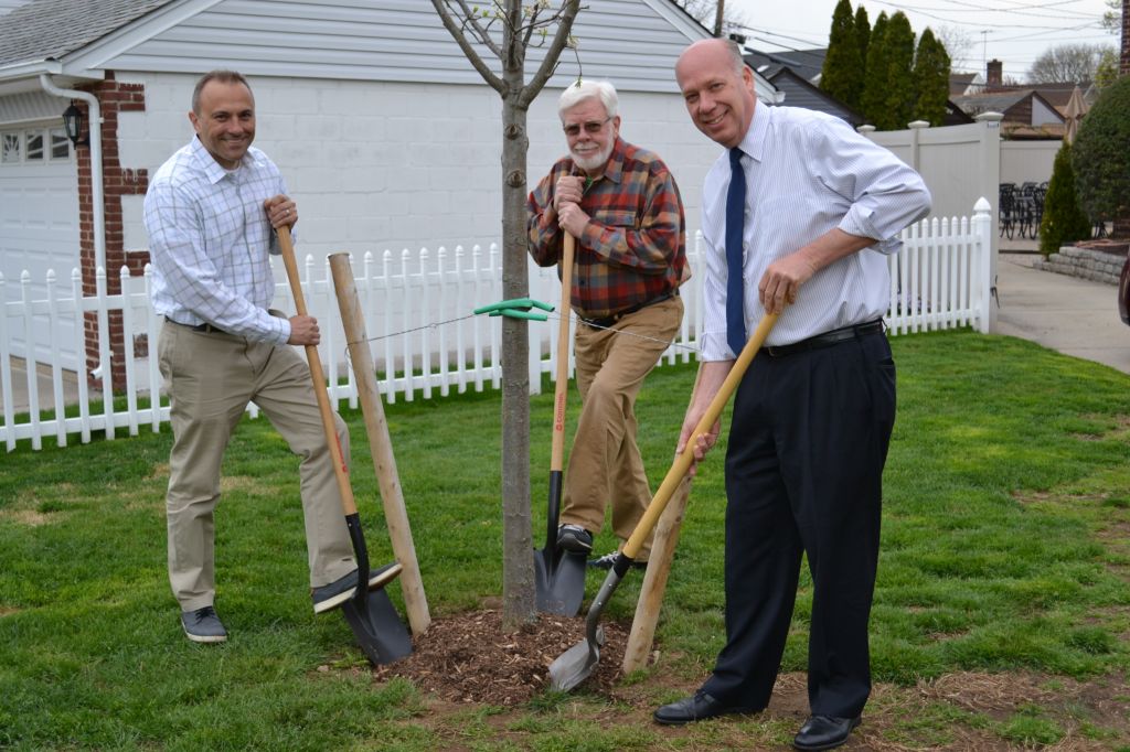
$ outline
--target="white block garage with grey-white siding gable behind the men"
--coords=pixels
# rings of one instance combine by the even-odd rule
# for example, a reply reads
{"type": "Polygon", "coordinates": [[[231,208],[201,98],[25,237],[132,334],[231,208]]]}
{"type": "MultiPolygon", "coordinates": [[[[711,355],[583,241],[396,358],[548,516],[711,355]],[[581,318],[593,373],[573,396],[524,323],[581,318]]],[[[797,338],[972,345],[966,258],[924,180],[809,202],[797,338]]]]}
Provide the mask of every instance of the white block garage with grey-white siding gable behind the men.
{"type": "MultiPolygon", "coordinates": [[[[623,137],[671,167],[695,228],[719,147],[690,123],[673,65],[710,33],[671,0],[600,0],[584,3],[573,36],[584,77],[621,93],[623,137]]],[[[531,51],[528,76],[541,56],[531,51]]],[[[299,254],[498,241],[502,103],[426,0],[0,0],[6,280],[28,270],[38,295],[53,269],[69,290],[81,268],[92,294],[99,265],[115,292],[123,265],[141,272],[149,175],[192,138],[192,86],[215,68],[251,80],[255,143],[301,209],[299,254]],[[72,102],[87,123],[96,113],[89,146],[72,147],[62,130],[72,102]]],[[[566,50],[530,108],[531,187],[565,151],[556,100],[579,72],[566,50]]],[[[775,99],[764,77],[756,86],[775,99]]],[[[63,353],[64,364],[77,357],[63,353]]]]}

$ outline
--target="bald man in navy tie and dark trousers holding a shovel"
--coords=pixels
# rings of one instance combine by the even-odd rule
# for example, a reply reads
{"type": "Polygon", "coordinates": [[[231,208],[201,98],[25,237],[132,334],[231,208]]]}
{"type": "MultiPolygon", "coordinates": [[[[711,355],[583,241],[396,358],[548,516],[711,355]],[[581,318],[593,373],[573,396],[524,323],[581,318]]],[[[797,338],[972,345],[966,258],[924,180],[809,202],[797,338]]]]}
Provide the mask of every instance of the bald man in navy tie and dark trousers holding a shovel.
{"type": "MultiPolygon", "coordinates": [[[[885,255],[930,209],[922,178],[843,121],[766,107],[732,42],[687,47],[676,79],[727,148],[703,190],[703,361],[678,451],[766,313],[780,313],[734,400],[725,457],[727,644],[693,697],[655,720],[757,712],[789,633],[801,556],[812,576],[808,696],[797,749],[843,744],[870,693],[867,622],[879,553],[895,365],[885,255]]],[[[701,460],[720,426],[694,448],[701,460]]]]}

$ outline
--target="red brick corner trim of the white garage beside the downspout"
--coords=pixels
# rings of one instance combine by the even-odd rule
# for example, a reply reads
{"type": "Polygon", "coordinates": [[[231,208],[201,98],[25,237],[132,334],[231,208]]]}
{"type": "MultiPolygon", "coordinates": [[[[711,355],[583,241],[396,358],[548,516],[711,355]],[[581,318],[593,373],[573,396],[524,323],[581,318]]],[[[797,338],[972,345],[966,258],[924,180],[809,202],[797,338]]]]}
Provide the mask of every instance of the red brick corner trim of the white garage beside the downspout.
{"type": "MultiPolygon", "coordinates": [[[[106,222],[106,292],[116,295],[121,291],[119,272],[128,266],[131,276],[140,276],[149,261],[146,251],[128,252],[124,247],[122,233],[122,196],[144,195],[149,187],[148,170],[124,169],[118,158],[118,114],[121,112],[145,111],[145,87],[140,84],[122,84],[108,73],[106,80],[87,87],[87,90],[98,97],[102,107],[102,172],[103,172],[103,211],[106,222]]],[[[87,106],[80,100],[75,105],[82,111],[82,117],[89,117],[87,106]]],[[[87,121],[88,122],[88,121],[87,121]]],[[[97,292],[95,280],[94,254],[94,193],[90,170],[90,149],[79,147],[78,159],[78,211],[79,211],[79,265],[82,270],[82,291],[86,295],[97,292]]],[[[97,317],[87,314],[86,317],[86,359],[87,367],[98,365],[98,330],[97,317]]],[[[112,356],[112,378],[115,390],[125,386],[125,343],[123,341],[122,315],[110,315],[110,347],[112,356]]],[[[132,343],[130,343],[132,347],[132,343]]],[[[95,384],[101,386],[101,384],[95,384]]]]}

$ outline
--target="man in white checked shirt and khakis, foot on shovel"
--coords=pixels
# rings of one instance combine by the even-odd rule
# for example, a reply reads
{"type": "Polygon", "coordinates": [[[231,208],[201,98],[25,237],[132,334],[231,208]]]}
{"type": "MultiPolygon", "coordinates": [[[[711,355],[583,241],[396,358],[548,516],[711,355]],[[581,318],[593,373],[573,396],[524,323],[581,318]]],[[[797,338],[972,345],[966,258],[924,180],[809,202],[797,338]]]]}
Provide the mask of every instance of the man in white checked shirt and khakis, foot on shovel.
{"type": "MultiPolygon", "coordinates": [[[[348,600],[357,565],[310,369],[287,347],[318,344],[318,322],[268,311],[273,228],[293,227],[298,212],[278,167],[251,146],[255,110],[246,79],[235,71],[203,76],[189,120],[195,137],[150,180],[145,225],[153,305],[165,317],[157,355],[173,427],[168,577],[189,639],[220,642],[227,632],[215,610],[212,510],[224,449],[249,402],[302,457],[315,613],[348,600]]],[[[348,457],[349,436],[334,419],[348,457]]]]}

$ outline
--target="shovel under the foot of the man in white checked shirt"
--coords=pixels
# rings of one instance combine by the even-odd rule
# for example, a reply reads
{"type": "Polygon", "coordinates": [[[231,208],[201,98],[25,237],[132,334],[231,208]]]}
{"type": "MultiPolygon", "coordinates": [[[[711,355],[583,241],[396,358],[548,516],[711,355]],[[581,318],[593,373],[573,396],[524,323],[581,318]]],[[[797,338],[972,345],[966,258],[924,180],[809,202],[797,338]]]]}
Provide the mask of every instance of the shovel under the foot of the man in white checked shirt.
{"type": "MultiPolygon", "coordinates": [[[[286,265],[286,276],[290,282],[290,291],[294,294],[295,308],[299,316],[306,316],[308,315],[306,299],[302,294],[302,282],[298,280],[298,263],[294,256],[294,244],[290,242],[290,228],[279,227],[278,239],[279,248],[282,251],[282,263],[286,265]]],[[[349,627],[354,630],[357,644],[368,659],[374,664],[392,663],[412,652],[411,636],[405,629],[403,622],[400,621],[400,615],[393,607],[392,601],[389,600],[389,594],[384,592],[384,585],[399,575],[402,567],[399,563],[384,567],[377,588],[370,592],[366,587],[366,584],[370,583],[368,549],[365,546],[365,534],[360,527],[360,517],[357,514],[353,488],[349,486],[349,471],[346,469],[341,444],[338,441],[338,432],[333,425],[330,395],[325,388],[325,375],[322,371],[322,361],[318,357],[316,346],[306,346],[306,360],[310,361],[310,376],[314,382],[314,395],[318,397],[318,408],[322,413],[325,440],[330,445],[333,472],[337,475],[338,490],[341,493],[341,509],[346,515],[349,540],[357,559],[356,592],[353,597],[341,604],[341,610],[345,612],[349,627]]]]}

